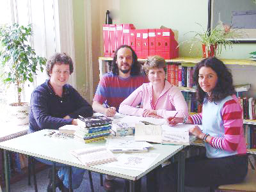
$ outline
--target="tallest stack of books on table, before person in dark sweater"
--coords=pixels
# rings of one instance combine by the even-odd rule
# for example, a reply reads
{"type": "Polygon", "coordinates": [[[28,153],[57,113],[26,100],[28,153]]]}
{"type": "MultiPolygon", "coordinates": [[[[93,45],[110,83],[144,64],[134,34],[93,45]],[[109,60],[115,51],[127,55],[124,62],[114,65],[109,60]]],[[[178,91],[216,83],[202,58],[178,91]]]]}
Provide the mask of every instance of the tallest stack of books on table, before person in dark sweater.
{"type": "Polygon", "coordinates": [[[110,134],[111,122],[112,120],[106,116],[79,116],[77,119],[79,127],[74,134],[74,138],[84,143],[104,140],[110,134]]]}

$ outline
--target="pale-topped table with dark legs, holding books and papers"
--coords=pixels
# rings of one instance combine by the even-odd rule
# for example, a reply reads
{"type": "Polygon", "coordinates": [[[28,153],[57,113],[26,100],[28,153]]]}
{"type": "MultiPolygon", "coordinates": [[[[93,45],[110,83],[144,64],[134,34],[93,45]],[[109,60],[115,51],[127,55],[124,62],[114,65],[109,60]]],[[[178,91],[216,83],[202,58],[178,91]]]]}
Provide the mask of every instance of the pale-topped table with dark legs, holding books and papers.
{"type": "MultiPolygon", "coordinates": [[[[21,154],[26,154],[28,156],[39,157],[54,161],[56,163],[67,164],[68,166],[76,166],[93,172],[113,175],[115,177],[120,177],[122,179],[130,180],[130,190],[134,191],[134,182],[135,180],[140,179],[146,175],[154,168],[157,168],[164,161],[174,156],[180,152],[184,146],[183,145],[161,145],[153,144],[154,148],[150,152],[160,154],[154,163],[146,170],[134,171],[134,170],[125,170],[120,168],[110,168],[104,164],[97,164],[95,166],[84,166],[76,157],[72,156],[69,152],[70,150],[84,148],[84,147],[94,147],[99,145],[104,145],[105,141],[99,141],[94,143],[83,143],[81,141],[74,140],[73,138],[52,138],[45,136],[45,134],[52,131],[51,129],[44,129],[42,131],[33,132],[31,134],[26,134],[20,136],[19,138],[14,138],[12,140],[4,141],[0,143],[0,148],[4,150],[4,171],[6,172],[6,191],[10,191],[10,180],[8,161],[7,161],[7,152],[18,152],[21,154]],[[33,143],[33,144],[32,144],[33,143]]],[[[179,191],[184,190],[184,154],[182,153],[179,156],[179,174],[178,174],[178,188],[179,191]]]]}

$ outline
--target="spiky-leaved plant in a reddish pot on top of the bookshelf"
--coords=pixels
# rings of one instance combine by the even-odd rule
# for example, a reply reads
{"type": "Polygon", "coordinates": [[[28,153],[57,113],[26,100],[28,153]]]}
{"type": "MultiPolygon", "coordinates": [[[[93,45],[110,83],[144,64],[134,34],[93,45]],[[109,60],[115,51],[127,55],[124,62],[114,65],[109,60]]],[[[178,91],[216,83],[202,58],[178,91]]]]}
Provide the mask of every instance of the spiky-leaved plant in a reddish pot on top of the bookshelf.
{"type": "MultiPolygon", "coordinates": [[[[189,31],[188,33],[195,33],[195,36],[191,40],[184,42],[191,42],[189,52],[193,49],[195,42],[200,42],[202,44],[204,58],[216,56],[216,53],[221,54],[223,47],[225,50],[227,47],[232,47],[233,43],[231,40],[236,41],[236,38],[242,36],[241,32],[237,32],[236,29],[232,29],[225,24],[219,24],[211,31],[209,29],[205,30],[202,26],[201,28],[202,31],[189,31]]],[[[179,46],[184,42],[180,43],[179,46]]]]}

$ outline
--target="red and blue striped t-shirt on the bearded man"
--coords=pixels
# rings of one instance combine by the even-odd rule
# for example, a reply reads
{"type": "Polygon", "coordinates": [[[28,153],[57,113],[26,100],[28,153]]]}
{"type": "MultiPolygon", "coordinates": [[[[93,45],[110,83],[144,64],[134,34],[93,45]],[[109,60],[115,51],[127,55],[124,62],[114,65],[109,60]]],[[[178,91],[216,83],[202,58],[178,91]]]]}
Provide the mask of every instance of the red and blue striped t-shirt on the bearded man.
{"type": "Polygon", "coordinates": [[[148,83],[147,76],[122,78],[109,72],[100,79],[93,101],[106,103],[118,111],[120,103],[143,83],[148,83]]]}

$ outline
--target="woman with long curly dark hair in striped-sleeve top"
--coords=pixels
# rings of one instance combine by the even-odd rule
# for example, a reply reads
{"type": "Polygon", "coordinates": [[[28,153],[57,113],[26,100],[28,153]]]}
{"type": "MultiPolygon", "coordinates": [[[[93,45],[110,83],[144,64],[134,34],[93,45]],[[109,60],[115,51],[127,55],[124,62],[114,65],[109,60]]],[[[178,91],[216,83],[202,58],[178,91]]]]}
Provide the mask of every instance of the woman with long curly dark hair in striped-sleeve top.
{"type": "MultiPolygon", "coordinates": [[[[194,124],[191,134],[205,143],[204,156],[185,163],[185,186],[212,187],[241,182],[248,171],[243,133],[243,109],[237,101],[232,74],[217,58],[200,61],[194,72],[202,113],[168,118],[169,124],[194,124]],[[198,127],[202,124],[202,130],[198,127]]],[[[176,191],[177,165],[159,171],[159,191],[176,191]]]]}

